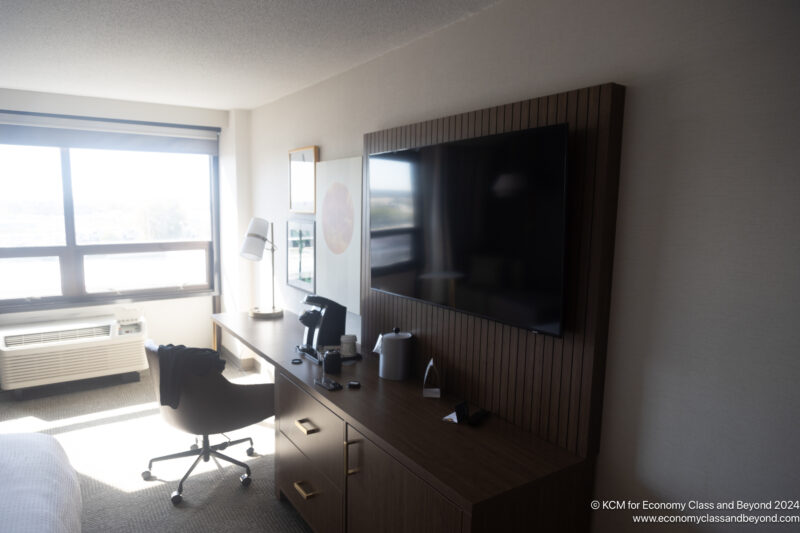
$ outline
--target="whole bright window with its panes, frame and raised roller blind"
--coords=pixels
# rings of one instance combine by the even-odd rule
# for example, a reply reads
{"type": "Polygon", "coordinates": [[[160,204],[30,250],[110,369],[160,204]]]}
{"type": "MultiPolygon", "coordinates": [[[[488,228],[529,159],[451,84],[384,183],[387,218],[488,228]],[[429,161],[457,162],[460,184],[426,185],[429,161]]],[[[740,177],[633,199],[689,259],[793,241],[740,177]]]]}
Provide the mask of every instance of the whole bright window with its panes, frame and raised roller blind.
{"type": "Polygon", "coordinates": [[[209,143],[4,116],[0,312],[215,289],[216,131],[209,143]]]}

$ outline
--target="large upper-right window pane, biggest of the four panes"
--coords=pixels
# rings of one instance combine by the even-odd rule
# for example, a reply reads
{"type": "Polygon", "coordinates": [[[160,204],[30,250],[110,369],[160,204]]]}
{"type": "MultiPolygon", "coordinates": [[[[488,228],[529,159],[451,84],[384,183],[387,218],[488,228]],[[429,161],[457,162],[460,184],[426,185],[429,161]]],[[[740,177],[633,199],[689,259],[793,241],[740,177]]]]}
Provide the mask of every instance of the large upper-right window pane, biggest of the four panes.
{"type": "Polygon", "coordinates": [[[70,163],[78,244],[211,240],[208,155],[71,149],[70,163]]]}

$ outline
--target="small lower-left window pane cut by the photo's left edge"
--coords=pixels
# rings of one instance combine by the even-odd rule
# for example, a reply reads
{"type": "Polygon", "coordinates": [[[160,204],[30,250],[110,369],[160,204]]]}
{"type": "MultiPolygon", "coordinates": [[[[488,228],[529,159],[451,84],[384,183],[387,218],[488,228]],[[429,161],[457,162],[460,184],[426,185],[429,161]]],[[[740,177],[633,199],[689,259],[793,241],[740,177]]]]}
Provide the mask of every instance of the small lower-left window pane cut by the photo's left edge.
{"type": "Polygon", "coordinates": [[[58,257],[0,259],[0,300],[60,295],[58,257]]]}

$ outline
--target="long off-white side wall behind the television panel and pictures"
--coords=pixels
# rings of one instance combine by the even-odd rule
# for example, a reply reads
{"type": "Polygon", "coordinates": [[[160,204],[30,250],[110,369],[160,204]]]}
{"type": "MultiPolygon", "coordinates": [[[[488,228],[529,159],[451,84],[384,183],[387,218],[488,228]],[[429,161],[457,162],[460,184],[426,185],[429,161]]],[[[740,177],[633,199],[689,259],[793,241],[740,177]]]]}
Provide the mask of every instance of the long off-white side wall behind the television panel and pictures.
{"type": "Polygon", "coordinates": [[[366,132],[627,86],[596,495],[796,499],[798,22],[792,1],[506,0],[255,110],[254,212],[285,242],[292,148],[355,156],[366,132]]]}

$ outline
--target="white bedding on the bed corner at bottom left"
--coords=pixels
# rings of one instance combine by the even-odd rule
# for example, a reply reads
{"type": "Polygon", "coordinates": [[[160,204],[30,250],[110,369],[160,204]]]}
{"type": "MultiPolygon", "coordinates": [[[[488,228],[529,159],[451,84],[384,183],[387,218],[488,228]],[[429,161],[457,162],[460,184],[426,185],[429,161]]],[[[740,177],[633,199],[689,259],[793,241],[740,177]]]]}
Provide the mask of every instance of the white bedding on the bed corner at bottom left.
{"type": "Polygon", "coordinates": [[[0,435],[0,530],[81,530],[81,489],[64,449],[41,433],[0,435]]]}

